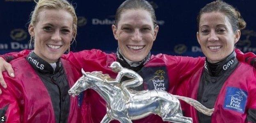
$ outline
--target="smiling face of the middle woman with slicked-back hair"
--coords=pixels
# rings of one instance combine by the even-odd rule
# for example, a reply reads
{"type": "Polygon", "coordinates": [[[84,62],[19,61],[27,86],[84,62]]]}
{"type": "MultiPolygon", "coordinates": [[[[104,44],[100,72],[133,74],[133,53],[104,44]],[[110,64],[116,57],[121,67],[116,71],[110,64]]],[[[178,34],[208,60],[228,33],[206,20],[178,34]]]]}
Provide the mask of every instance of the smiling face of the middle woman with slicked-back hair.
{"type": "Polygon", "coordinates": [[[133,62],[142,61],[150,52],[158,33],[151,14],[143,9],[126,10],[117,25],[112,25],[119,51],[123,57],[133,62]]]}

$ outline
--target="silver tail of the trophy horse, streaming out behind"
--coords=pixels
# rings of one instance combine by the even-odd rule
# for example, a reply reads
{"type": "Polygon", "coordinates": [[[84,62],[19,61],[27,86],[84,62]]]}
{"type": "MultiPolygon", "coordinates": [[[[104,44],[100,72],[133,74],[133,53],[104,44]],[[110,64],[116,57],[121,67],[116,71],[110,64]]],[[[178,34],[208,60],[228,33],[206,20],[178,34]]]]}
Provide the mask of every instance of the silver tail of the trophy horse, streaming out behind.
{"type": "Polygon", "coordinates": [[[195,109],[197,109],[199,112],[211,116],[213,114],[214,109],[208,109],[207,107],[203,106],[201,103],[199,103],[197,100],[194,100],[192,98],[188,98],[185,96],[178,96],[173,95],[175,98],[185,101],[187,104],[192,105],[195,109]]]}

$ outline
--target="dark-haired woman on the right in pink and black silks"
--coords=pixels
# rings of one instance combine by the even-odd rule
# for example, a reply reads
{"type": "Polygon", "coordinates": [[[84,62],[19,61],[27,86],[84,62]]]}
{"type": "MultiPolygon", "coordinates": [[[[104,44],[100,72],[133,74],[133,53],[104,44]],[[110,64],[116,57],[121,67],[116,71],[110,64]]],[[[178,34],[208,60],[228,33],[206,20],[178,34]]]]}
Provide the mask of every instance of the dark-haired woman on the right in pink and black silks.
{"type": "Polygon", "coordinates": [[[239,62],[234,52],[245,25],[240,12],[221,0],[201,9],[197,40],[206,63],[180,85],[178,94],[215,112],[206,116],[184,103],[185,116],[195,123],[256,122],[256,70],[239,62]]]}

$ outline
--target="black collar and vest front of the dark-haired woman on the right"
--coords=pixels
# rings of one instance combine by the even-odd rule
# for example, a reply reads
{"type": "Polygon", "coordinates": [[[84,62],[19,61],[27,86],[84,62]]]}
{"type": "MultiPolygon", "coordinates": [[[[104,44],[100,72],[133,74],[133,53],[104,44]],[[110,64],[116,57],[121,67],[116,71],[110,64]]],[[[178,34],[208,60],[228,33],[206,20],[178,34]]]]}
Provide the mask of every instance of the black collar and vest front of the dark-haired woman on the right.
{"type": "MultiPolygon", "coordinates": [[[[201,76],[197,101],[207,108],[213,108],[224,82],[238,66],[238,59],[233,51],[224,60],[211,64],[206,58],[201,76]]],[[[199,123],[210,123],[211,117],[197,111],[199,123]]]]}

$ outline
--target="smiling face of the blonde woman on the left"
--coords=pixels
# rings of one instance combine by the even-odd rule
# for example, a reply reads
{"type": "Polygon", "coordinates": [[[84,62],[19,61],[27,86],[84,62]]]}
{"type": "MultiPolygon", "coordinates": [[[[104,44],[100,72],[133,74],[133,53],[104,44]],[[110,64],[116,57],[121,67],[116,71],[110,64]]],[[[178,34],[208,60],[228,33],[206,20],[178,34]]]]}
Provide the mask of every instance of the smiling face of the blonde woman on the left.
{"type": "Polygon", "coordinates": [[[34,38],[34,53],[48,63],[57,62],[70,47],[73,38],[73,18],[64,9],[42,9],[37,24],[29,25],[34,38]]]}

